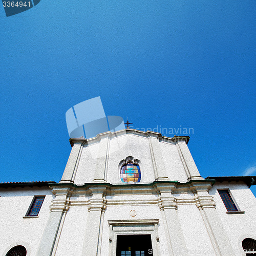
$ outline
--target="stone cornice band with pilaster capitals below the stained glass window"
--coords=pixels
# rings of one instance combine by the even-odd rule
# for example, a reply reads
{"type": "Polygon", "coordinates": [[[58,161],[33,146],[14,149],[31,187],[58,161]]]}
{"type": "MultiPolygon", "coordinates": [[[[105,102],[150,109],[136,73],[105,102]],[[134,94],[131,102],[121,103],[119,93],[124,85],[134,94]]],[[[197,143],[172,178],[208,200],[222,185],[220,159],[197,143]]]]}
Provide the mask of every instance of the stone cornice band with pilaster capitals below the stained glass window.
{"type": "Polygon", "coordinates": [[[177,209],[178,205],[195,204],[199,209],[215,207],[208,190],[212,186],[210,180],[197,180],[180,183],[178,181],[155,181],[150,184],[111,185],[110,183],[73,183],[51,184],[56,198],[51,204],[51,211],[67,211],[70,206],[87,206],[89,211],[104,210],[106,206],[118,205],[158,205],[160,210],[177,209]],[[191,198],[175,195],[194,194],[191,198]],[[109,199],[109,196],[130,196],[109,199]],[[133,195],[152,195],[147,198],[133,198],[133,195]],[[158,196],[157,196],[158,195],[158,196]],[[108,196],[106,198],[106,196],[108,196]],[[155,197],[154,197],[155,196],[155,197]],[[74,197],[74,199],[72,199],[74,197]]]}

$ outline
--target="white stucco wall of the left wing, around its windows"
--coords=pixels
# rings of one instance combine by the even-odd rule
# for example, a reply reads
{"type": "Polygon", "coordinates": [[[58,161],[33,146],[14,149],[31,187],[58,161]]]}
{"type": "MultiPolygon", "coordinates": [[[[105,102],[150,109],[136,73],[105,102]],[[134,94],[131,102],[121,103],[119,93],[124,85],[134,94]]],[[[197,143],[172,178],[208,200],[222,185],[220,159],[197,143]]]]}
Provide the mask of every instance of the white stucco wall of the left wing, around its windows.
{"type": "Polygon", "coordinates": [[[23,245],[28,256],[36,255],[42,232],[50,214],[53,195],[49,187],[0,188],[0,255],[9,249],[23,245]],[[26,218],[34,196],[46,196],[38,218],[26,218]]]}

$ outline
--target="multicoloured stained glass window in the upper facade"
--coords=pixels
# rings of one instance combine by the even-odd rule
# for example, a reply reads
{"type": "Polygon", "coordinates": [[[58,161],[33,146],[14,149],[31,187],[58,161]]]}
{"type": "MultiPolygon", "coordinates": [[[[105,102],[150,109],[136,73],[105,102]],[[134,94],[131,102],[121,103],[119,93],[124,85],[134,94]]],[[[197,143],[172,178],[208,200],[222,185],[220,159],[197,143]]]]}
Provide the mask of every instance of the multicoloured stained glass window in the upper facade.
{"type": "Polygon", "coordinates": [[[123,165],[120,177],[122,182],[140,182],[141,174],[139,165],[134,163],[123,165]]]}

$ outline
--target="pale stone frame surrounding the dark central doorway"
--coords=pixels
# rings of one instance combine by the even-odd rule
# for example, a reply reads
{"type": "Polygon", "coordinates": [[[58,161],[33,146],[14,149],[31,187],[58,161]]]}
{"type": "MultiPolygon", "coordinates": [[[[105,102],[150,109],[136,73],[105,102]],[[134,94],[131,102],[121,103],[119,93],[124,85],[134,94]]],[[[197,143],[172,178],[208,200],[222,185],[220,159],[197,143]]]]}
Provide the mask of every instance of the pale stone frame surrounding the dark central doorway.
{"type": "Polygon", "coordinates": [[[109,255],[116,256],[117,236],[133,234],[150,234],[153,255],[159,255],[158,219],[150,220],[109,220],[110,248],[109,255]]]}

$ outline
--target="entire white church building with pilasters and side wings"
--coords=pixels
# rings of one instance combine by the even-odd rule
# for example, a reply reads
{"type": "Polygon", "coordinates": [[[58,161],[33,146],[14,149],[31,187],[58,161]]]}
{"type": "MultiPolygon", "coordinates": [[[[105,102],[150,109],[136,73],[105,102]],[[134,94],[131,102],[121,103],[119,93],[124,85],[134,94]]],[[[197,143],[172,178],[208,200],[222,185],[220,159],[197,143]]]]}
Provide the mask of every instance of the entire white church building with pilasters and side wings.
{"type": "Polygon", "coordinates": [[[256,177],[202,178],[188,140],[70,139],[59,183],[0,184],[0,255],[256,255],[256,177]]]}

